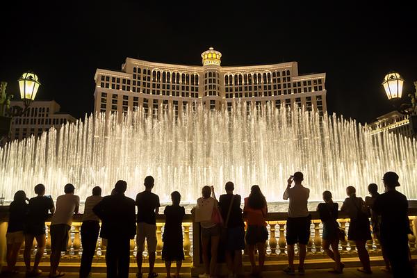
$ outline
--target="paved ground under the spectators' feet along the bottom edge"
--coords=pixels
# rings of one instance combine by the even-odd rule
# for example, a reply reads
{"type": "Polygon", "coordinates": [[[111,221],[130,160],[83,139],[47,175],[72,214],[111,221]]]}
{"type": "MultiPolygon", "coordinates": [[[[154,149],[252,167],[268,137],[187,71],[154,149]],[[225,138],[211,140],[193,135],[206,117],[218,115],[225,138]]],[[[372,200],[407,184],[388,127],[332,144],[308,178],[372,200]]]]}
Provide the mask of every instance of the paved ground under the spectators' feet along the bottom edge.
{"type": "MultiPolygon", "coordinates": [[[[415,270],[415,274],[417,277],[417,269],[415,270]]],[[[23,278],[24,275],[22,273],[20,273],[19,275],[15,275],[13,276],[14,278],[23,278]]],[[[47,277],[47,274],[41,275],[40,277],[47,277]]],[[[63,278],[78,278],[79,275],[78,273],[66,273],[65,276],[63,278]]],[[[106,274],[104,273],[92,273],[92,278],[105,278],[106,274]]],[[[147,275],[144,275],[144,277],[146,278],[147,275]]],[[[161,273],[159,275],[159,277],[161,278],[165,278],[166,275],[165,273],[161,273]]],[[[184,273],[183,275],[181,275],[181,277],[187,278],[190,277],[190,274],[186,274],[184,273]]],[[[249,277],[249,275],[247,275],[246,277],[249,277]]],[[[272,277],[301,277],[300,275],[295,275],[295,276],[288,276],[286,274],[284,274],[284,272],[277,272],[277,271],[270,271],[270,272],[264,272],[263,273],[263,278],[272,278],[272,277]]],[[[335,275],[332,273],[328,272],[328,269],[322,269],[322,270],[306,270],[306,275],[304,275],[304,277],[309,277],[309,278],[325,278],[325,277],[352,277],[352,278],[357,278],[357,277],[377,277],[377,278],[389,278],[391,277],[391,275],[389,273],[383,272],[382,270],[380,270],[379,267],[375,267],[373,268],[373,275],[367,275],[365,273],[361,273],[358,272],[356,270],[356,268],[345,268],[345,271],[343,272],[343,275],[335,275]]],[[[131,275],[129,275],[129,278],[136,278],[136,275],[134,273],[131,273],[131,275]]],[[[404,277],[406,278],[406,277],[404,277]]]]}

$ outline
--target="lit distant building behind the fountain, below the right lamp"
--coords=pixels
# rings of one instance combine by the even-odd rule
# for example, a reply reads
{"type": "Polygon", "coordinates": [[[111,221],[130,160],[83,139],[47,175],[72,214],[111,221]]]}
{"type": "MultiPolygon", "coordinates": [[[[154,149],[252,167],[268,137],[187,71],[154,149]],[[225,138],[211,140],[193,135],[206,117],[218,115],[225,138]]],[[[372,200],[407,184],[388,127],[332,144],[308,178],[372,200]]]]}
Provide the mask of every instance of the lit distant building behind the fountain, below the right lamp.
{"type": "Polygon", "coordinates": [[[413,124],[416,124],[415,121],[411,120],[411,117],[408,115],[403,115],[398,111],[392,111],[377,117],[375,122],[371,122],[367,126],[373,134],[389,131],[407,137],[416,137],[417,134],[415,127],[413,128],[413,124]]]}

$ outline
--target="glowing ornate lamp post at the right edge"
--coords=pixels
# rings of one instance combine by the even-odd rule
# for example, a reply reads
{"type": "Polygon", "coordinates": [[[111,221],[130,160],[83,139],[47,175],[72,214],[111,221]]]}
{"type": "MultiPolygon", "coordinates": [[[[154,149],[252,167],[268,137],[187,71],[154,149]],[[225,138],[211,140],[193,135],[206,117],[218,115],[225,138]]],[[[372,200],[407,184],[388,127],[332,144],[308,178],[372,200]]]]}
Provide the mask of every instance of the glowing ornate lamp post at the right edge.
{"type": "Polygon", "coordinates": [[[414,87],[416,92],[409,93],[408,97],[411,98],[411,103],[402,103],[402,85],[404,84],[404,79],[398,74],[398,72],[390,72],[384,77],[382,85],[388,97],[389,101],[395,107],[395,110],[402,113],[402,115],[409,116],[409,122],[414,131],[414,134],[417,134],[417,81],[414,81],[414,87]]]}

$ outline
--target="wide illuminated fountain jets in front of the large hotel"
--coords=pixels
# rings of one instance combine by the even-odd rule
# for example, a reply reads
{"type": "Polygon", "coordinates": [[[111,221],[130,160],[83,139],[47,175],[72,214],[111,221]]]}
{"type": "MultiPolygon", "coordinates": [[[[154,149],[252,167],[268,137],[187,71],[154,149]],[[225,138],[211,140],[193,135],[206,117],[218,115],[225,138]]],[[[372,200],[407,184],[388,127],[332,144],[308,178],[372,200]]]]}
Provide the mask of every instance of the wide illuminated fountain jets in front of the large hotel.
{"type": "Polygon", "coordinates": [[[259,184],[268,202],[282,200],[288,176],[304,173],[310,199],[324,190],[334,199],[345,198],[345,187],[366,195],[368,183],[382,186],[384,172],[400,176],[399,188],[417,197],[416,140],[370,133],[354,120],[336,115],[264,106],[251,112],[240,104],[228,111],[197,106],[172,120],[160,120],[142,108],[124,115],[97,114],[50,129],[38,138],[9,142],[0,149],[0,196],[13,199],[16,190],[33,196],[33,186],[44,183],[47,194],[63,194],[73,183],[81,199],[93,186],[110,194],[115,181],[128,183],[126,195],[143,190],[143,179],[155,177],[154,192],[161,202],[178,190],[184,202],[195,202],[202,186],[223,192],[234,181],[236,192],[247,196],[259,184]]]}

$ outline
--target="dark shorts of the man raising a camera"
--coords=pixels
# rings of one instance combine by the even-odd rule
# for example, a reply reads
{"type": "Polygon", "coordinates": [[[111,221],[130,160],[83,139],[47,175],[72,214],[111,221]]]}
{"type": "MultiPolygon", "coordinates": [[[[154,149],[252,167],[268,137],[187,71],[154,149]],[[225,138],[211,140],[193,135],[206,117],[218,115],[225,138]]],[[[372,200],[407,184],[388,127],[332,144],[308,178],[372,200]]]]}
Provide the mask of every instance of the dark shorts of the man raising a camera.
{"type": "Polygon", "coordinates": [[[286,224],[286,241],[288,245],[300,243],[307,245],[310,239],[311,215],[301,218],[288,218],[286,224]]]}

